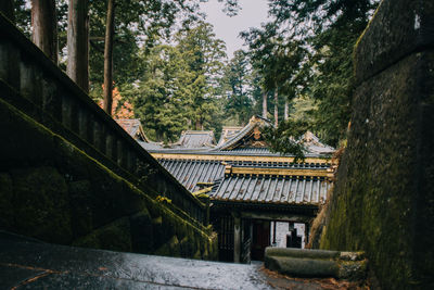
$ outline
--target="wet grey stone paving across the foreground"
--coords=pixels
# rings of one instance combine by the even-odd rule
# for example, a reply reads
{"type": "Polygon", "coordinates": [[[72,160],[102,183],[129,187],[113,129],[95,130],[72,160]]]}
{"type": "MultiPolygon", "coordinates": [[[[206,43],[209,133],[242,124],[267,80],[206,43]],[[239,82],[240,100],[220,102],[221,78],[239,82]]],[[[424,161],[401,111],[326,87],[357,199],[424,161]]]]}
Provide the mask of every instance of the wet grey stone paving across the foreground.
{"type": "Polygon", "coordinates": [[[322,286],[277,275],[260,263],[90,250],[0,232],[0,289],[346,289],[322,286]]]}

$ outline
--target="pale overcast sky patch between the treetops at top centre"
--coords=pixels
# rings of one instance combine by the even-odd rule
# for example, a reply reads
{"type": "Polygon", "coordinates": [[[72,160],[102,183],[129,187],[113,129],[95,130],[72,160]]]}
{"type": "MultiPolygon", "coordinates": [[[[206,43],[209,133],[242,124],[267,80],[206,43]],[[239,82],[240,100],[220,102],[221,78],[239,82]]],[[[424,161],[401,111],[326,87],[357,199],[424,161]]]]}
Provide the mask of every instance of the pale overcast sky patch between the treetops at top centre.
{"type": "Polygon", "coordinates": [[[217,38],[225,40],[229,59],[244,43],[239,34],[250,27],[259,27],[260,23],[267,20],[267,0],[239,0],[239,2],[242,10],[232,17],[221,11],[224,3],[217,0],[201,3],[202,11],[208,15],[206,21],[214,25],[217,38]]]}

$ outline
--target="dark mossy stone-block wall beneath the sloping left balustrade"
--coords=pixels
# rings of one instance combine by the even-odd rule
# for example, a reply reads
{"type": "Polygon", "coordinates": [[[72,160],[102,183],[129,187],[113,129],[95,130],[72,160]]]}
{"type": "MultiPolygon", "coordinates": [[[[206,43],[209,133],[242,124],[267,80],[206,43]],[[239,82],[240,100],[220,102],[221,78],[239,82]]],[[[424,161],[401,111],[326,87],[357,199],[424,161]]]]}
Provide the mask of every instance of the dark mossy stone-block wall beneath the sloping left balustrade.
{"type": "Polygon", "coordinates": [[[47,242],[217,259],[192,224],[0,98],[0,229],[47,242]]]}

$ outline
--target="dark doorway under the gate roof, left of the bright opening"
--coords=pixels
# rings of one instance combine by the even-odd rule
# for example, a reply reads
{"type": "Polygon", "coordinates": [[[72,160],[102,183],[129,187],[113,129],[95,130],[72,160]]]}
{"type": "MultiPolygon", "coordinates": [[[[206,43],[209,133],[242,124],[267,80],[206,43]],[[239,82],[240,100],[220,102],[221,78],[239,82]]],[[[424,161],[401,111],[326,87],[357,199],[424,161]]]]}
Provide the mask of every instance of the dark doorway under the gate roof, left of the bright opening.
{"type": "Polygon", "coordinates": [[[252,220],[252,222],[253,222],[252,260],[264,261],[265,248],[270,245],[270,222],[269,220],[252,220]]]}

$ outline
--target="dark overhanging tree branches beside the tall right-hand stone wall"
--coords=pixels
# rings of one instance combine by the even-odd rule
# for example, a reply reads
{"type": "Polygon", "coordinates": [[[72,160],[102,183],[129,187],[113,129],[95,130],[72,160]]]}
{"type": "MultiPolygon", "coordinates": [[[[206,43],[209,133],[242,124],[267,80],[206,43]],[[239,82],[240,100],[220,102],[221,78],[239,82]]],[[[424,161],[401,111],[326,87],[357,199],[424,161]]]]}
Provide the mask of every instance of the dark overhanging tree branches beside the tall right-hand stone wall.
{"type": "Polygon", "coordinates": [[[331,146],[336,146],[346,131],[353,93],[353,47],[376,3],[272,0],[272,21],[242,34],[261,73],[264,89],[278,88],[290,100],[301,94],[315,99],[309,129],[331,146]]]}

